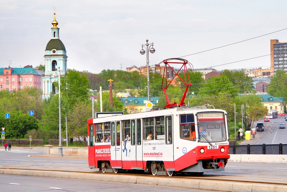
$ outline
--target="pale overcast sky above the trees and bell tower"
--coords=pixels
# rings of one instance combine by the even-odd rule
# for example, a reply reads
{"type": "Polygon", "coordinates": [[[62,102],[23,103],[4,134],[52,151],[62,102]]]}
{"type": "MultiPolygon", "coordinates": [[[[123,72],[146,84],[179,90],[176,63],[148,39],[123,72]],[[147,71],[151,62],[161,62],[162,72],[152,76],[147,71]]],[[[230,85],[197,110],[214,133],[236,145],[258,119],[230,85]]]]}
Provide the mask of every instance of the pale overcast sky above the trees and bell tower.
{"type": "MultiPolygon", "coordinates": [[[[93,73],[145,66],[146,39],[156,50],[152,66],[287,28],[284,0],[0,0],[0,7],[0,68],[44,64],[53,7],[68,68],[93,73]]],[[[194,68],[268,68],[270,39],[286,42],[287,30],[182,58],[194,68]]]]}

